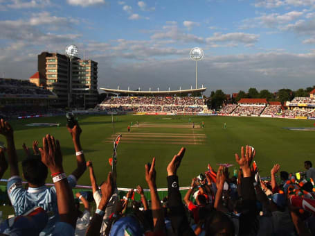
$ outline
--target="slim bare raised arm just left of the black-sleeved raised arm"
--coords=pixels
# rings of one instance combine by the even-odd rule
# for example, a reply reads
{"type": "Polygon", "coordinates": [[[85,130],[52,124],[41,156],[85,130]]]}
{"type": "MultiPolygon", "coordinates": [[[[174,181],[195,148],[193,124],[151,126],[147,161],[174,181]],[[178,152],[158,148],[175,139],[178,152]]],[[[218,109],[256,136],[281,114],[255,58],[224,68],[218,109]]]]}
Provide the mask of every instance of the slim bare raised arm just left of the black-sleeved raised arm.
{"type": "Polygon", "coordinates": [[[145,180],[150,188],[154,232],[163,232],[165,230],[164,212],[156,189],[156,171],[154,167],[155,158],[152,160],[150,169],[148,165],[145,165],[145,180]]]}

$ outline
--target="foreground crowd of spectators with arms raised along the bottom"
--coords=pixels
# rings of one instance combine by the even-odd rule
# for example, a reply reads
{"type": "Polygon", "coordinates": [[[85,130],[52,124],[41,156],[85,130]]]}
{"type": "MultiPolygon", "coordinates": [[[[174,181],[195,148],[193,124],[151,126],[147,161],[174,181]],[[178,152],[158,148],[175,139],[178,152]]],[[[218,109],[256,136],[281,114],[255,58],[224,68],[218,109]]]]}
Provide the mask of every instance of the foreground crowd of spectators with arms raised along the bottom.
{"type": "Polygon", "coordinates": [[[82,151],[82,129],[76,124],[68,130],[76,156],[72,174],[68,177],[65,174],[60,142],[46,135],[40,147],[39,142],[33,142],[33,151],[24,145],[27,158],[21,167],[28,183],[26,187],[21,180],[13,129],[8,122],[0,120],[0,134],[7,144],[6,149],[0,148],[0,178],[9,169],[8,196],[17,216],[0,224],[1,234],[234,236],[315,233],[315,169],[310,161],[304,163],[306,178],[280,171],[280,165],[276,164],[270,172],[271,180],[263,181],[254,162],[255,149],[242,147],[240,155],[235,153],[239,170],[233,171],[233,176],[227,165],[219,165],[217,171],[208,165],[204,174],[192,178],[182,199],[177,171],[186,149],[181,148],[170,158],[166,168],[168,196],[165,199],[161,201],[157,192],[156,178],[163,176],[156,176],[155,158],[144,168],[151,202],[147,201],[140,185],[136,193],[130,189],[120,199],[116,172],[98,176],[99,186],[93,163],[86,162],[82,151]],[[79,192],[74,197],[71,188],[86,169],[89,169],[92,192],[79,192]],[[45,185],[48,170],[54,187],[45,185]],[[277,182],[279,171],[281,180],[277,182]],[[134,194],[139,194],[141,201],[135,201],[134,194]],[[91,214],[89,201],[95,201],[95,213],[91,214]],[[78,208],[79,202],[84,205],[83,211],[78,208]]]}

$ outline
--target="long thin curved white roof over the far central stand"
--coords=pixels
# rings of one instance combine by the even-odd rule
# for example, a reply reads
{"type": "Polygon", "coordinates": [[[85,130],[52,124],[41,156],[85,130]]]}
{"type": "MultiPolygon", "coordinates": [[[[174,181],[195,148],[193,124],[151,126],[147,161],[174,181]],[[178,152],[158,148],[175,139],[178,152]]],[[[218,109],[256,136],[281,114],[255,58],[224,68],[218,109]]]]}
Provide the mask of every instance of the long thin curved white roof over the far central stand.
{"type": "Polygon", "coordinates": [[[171,94],[191,94],[194,92],[204,92],[206,87],[191,90],[166,90],[166,91],[134,91],[134,90],[112,90],[105,87],[100,87],[103,90],[111,94],[138,94],[138,95],[171,95],[171,94]]]}

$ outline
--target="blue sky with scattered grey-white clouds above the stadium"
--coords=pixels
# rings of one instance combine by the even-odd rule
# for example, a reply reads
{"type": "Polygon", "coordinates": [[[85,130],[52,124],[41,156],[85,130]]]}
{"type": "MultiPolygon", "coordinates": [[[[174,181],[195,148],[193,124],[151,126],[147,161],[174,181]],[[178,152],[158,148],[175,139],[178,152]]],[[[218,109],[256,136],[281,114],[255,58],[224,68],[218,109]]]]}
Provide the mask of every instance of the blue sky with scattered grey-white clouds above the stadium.
{"type": "Polygon", "coordinates": [[[315,0],[0,0],[0,77],[28,79],[42,51],[98,62],[98,87],[206,94],[315,85],[315,0]]]}

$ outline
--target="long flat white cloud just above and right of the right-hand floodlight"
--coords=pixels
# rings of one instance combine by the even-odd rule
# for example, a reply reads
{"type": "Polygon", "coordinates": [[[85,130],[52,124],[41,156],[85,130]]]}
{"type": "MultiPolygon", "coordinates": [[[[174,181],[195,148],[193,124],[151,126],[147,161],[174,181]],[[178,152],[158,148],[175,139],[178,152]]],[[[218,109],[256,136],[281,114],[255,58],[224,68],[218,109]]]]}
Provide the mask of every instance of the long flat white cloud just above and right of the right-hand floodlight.
{"type": "Polygon", "coordinates": [[[208,37],[207,42],[242,42],[244,44],[251,44],[257,42],[259,35],[249,33],[215,33],[213,37],[208,37]]]}

